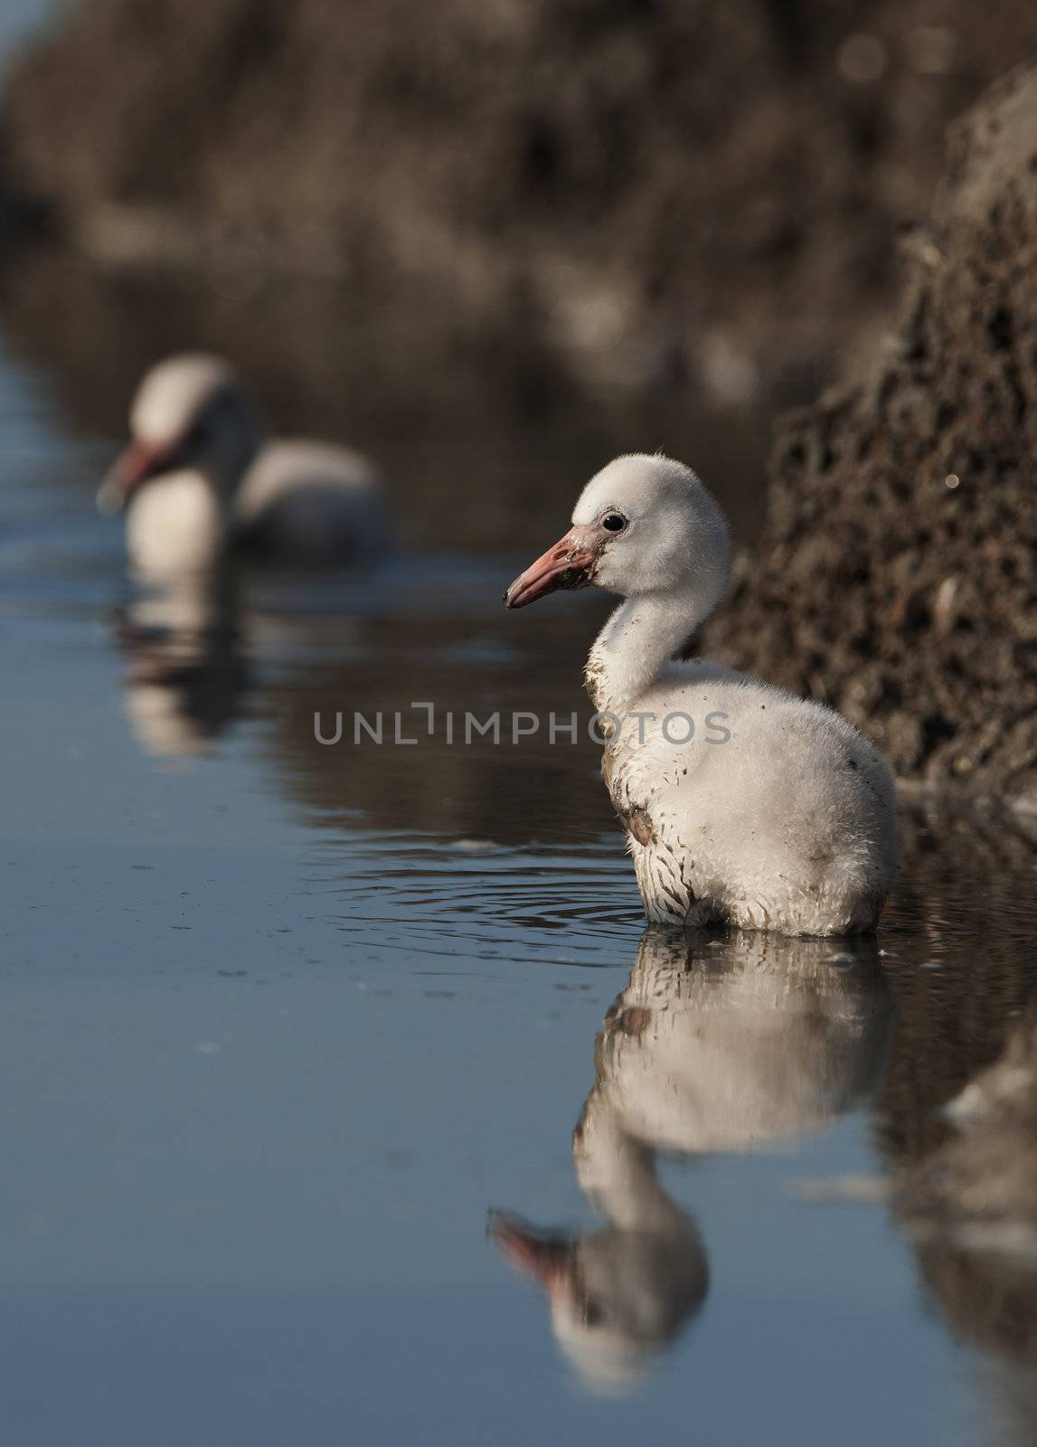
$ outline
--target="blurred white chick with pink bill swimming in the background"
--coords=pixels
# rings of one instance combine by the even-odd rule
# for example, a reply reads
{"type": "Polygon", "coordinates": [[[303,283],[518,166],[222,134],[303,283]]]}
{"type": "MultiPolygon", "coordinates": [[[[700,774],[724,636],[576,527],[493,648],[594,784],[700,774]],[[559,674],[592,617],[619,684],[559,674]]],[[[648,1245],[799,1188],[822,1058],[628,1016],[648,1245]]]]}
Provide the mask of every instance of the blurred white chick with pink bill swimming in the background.
{"type": "Polygon", "coordinates": [[[153,368],[130,430],[98,504],[129,509],[130,559],[145,577],[210,569],[237,546],[295,563],[388,547],[372,464],[325,443],[265,444],[252,398],[218,357],[178,356],[153,368]]]}

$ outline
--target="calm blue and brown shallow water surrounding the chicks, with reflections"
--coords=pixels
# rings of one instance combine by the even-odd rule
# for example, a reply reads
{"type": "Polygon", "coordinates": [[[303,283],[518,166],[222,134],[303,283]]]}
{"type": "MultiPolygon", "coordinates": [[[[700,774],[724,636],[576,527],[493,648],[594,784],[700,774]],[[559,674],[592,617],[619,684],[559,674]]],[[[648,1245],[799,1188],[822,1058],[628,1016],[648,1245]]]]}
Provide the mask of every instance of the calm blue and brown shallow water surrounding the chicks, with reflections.
{"type": "Polygon", "coordinates": [[[587,718],[600,602],[499,595],[600,427],[544,456],[512,418],[487,480],[460,412],[412,418],[401,559],[142,599],[91,504],[108,399],[20,307],[4,1440],[1033,1440],[1031,1276],[920,1244],[888,1197],[1033,994],[1024,833],[905,816],[871,945],[645,932],[586,734],[445,738],[448,710],[587,718]],[[317,710],[418,742],[324,747],[317,710]]]}

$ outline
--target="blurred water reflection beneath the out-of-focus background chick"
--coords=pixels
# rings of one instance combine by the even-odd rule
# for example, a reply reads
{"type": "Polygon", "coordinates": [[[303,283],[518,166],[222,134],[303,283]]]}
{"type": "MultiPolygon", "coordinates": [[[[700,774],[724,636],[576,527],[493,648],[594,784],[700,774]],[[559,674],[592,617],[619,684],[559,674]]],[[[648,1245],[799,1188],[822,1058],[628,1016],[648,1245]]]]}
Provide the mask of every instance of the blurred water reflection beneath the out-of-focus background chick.
{"type": "Polygon", "coordinates": [[[146,754],[207,752],[249,690],[233,579],[185,580],[136,599],[119,618],[126,713],[146,754]]]}

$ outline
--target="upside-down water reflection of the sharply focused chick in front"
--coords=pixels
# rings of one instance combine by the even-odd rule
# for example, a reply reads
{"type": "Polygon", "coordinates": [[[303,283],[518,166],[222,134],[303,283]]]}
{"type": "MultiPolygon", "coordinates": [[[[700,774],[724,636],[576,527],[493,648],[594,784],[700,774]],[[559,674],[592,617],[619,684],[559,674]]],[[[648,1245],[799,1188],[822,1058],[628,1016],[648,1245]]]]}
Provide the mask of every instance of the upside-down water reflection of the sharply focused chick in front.
{"type": "Polygon", "coordinates": [[[701,1239],[664,1191],[655,1152],[745,1150],[820,1129],[881,1069],[885,994],[874,941],[649,929],[594,1042],[573,1137],[581,1191],[607,1220],[577,1236],[495,1213],[492,1234],[551,1299],[581,1378],[618,1391],[651,1366],[707,1288],[701,1239]]]}

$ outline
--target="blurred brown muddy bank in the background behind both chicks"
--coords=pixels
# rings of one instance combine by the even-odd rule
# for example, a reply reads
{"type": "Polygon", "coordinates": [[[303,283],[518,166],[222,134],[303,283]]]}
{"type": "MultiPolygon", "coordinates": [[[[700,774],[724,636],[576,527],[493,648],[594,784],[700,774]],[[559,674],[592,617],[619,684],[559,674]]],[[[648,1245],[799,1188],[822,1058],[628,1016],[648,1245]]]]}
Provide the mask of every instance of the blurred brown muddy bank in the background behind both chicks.
{"type": "Polygon", "coordinates": [[[113,265],[396,281],[577,366],[804,401],[879,324],[1017,0],[80,0],[7,192],[113,265]]]}

